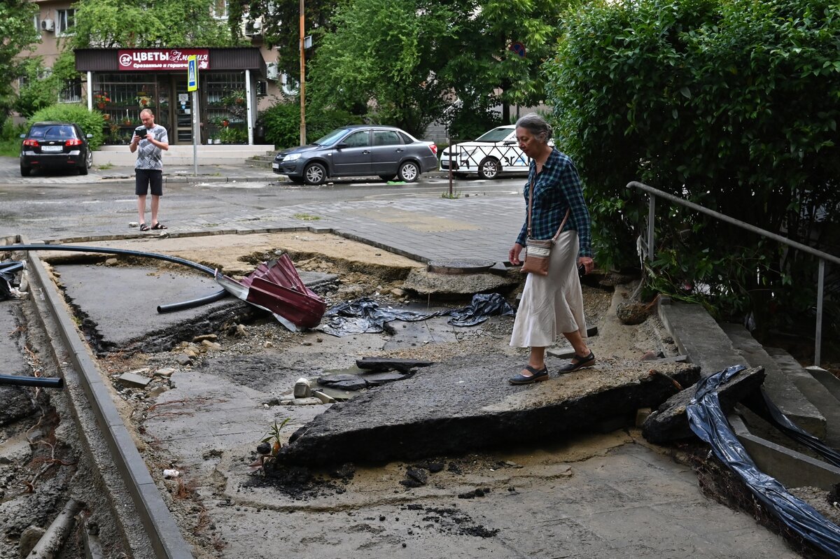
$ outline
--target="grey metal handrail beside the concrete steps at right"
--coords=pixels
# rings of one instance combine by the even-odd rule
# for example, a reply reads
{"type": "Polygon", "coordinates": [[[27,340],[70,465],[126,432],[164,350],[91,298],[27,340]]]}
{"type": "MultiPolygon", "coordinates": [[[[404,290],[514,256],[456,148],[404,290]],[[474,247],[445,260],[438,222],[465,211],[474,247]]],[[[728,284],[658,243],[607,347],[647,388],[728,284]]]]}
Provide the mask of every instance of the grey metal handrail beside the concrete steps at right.
{"type": "Polygon", "coordinates": [[[641,182],[633,180],[627,183],[627,188],[635,188],[639,191],[647,192],[648,196],[650,196],[650,200],[648,201],[648,239],[645,246],[645,253],[647,255],[648,260],[654,259],[654,217],[656,213],[656,197],[659,196],[664,200],[668,200],[674,202],[675,204],[679,204],[680,206],[689,207],[696,212],[704,213],[707,216],[714,217],[717,220],[722,222],[730,223],[736,227],[741,227],[742,229],[746,229],[749,232],[756,233],[761,235],[762,237],[772,239],[777,243],[786,244],[791,248],[795,248],[797,250],[801,250],[804,253],[809,253],[812,256],[816,256],[819,259],[819,271],[817,273],[817,282],[816,282],[816,340],[814,343],[814,364],[819,367],[820,366],[820,358],[821,358],[821,350],[822,350],[822,299],[823,299],[823,292],[825,290],[825,276],[826,276],[826,262],[832,262],[833,264],[840,264],[840,258],[834,256],[829,253],[824,253],[822,250],[817,250],[816,248],[809,247],[806,244],[797,243],[796,241],[791,241],[789,238],[782,237],[781,235],[777,235],[775,233],[765,231],[759,227],[755,227],[754,225],[750,225],[749,223],[742,222],[734,217],[729,217],[719,212],[715,212],[714,210],[710,210],[706,207],[699,206],[694,202],[690,202],[687,200],[683,200],[678,196],[674,196],[669,194],[668,192],[660,191],[655,189],[652,186],[644,185],[641,182]]]}

